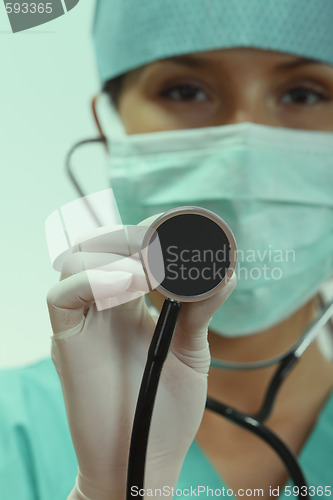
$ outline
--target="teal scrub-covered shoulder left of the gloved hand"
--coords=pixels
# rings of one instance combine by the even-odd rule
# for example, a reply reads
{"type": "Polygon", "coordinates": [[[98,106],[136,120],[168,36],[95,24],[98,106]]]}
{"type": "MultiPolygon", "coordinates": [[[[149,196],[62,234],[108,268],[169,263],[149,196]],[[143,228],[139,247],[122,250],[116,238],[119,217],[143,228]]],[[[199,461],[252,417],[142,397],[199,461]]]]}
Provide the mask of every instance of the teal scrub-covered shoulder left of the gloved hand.
{"type": "Polygon", "coordinates": [[[76,471],[61,386],[51,359],[0,370],[2,498],[66,498],[76,471]]]}

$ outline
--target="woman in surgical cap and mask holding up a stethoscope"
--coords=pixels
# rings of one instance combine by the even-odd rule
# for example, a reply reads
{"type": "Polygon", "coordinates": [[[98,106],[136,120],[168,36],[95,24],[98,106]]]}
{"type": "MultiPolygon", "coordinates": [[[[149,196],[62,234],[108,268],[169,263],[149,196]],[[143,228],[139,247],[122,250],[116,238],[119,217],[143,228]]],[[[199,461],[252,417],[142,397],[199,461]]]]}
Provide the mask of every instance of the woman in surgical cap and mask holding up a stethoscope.
{"type": "MultiPolygon", "coordinates": [[[[104,90],[124,143],[142,135],[142,156],[120,168],[113,130],[103,130],[124,223],[201,206],[226,220],[240,250],[221,292],[182,306],[149,436],[147,497],[176,485],[184,496],[199,486],[224,496],[296,496],[267,444],[204,407],[208,383],[214,399],[258,411],[275,367],[209,368],[210,355],[251,363],[285,352],[313,321],[332,276],[332,23],[331,0],[97,1],[104,90]]],[[[91,252],[123,255],[119,241],[98,236],[91,252]]],[[[131,266],[90,279],[106,283],[109,297],[140,288],[131,266]]],[[[48,295],[52,358],[79,464],[69,498],[118,500],[156,319],[143,297],[98,310],[91,284],[76,272],[48,295]]],[[[150,300],[159,309],[163,297],[150,300]]],[[[332,384],[333,367],[314,342],[267,420],[298,456],[315,498],[333,485],[332,384]]]]}

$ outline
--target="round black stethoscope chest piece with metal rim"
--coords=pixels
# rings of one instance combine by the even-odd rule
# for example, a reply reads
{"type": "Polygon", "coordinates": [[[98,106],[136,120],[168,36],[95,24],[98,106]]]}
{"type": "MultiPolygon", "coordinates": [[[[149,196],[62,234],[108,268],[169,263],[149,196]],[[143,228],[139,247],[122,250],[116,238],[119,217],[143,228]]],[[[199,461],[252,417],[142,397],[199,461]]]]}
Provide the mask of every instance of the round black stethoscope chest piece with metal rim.
{"type": "Polygon", "coordinates": [[[199,207],[180,207],[157,218],[142,246],[142,261],[156,290],[180,302],[214,295],[236,265],[236,241],[226,222],[199,207]],[[154,241],[159,240],[159,245],[154,241]],[[162,252],[163,258],[160,258],[162,252]]]}

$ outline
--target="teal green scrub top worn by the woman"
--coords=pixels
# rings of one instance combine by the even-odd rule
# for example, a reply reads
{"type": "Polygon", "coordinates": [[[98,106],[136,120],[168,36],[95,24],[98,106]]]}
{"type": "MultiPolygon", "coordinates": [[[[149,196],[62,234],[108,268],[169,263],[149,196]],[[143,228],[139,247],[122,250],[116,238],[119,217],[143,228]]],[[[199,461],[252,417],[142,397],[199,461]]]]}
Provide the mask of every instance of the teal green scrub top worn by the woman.
{"type": "MultiPolygon", "coordinates": [[[[333,496],[332,491],[328,493],[333,490],[333,395],[302,450],[300,463],[313,487],[310,495],[321,499],[333,496]]],[[[1,500],[65,500],[76,474],[76,456],[52,361],[45,359],[25,368],[1,370],[1,500]]],[[[175,498],[191,494],[199,498],[228,497],[228,487],[195,442],[185,459],[177,488],[175,498]],[[198,494],[199,486],[209,487],[214,494],[211,490],[198,494]]],[[[282,494],[280,498],[296,497],[282,494]]]]}

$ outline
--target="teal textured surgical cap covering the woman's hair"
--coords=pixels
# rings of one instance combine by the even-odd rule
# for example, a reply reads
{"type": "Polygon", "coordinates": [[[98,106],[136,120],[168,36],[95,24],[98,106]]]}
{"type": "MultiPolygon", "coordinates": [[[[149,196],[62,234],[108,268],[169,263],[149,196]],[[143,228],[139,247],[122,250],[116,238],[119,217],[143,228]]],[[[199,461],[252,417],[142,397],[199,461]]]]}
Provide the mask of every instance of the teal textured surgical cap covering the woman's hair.
{"type": "Polygon", "coordinates": [[[97,0],[102,83],[166,57],[231,47],[333,64],[333,0],[97,0]]]}

